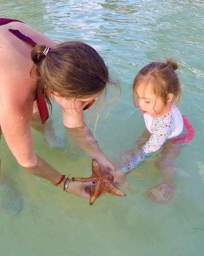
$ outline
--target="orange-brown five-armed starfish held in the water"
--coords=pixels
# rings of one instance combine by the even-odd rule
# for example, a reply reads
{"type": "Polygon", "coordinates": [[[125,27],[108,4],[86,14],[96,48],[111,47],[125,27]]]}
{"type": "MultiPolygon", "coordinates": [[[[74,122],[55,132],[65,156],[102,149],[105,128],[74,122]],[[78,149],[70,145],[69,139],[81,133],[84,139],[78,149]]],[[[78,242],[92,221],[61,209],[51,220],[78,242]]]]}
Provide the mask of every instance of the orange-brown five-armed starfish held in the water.
{"type": "Polygon", "coordinates": [[[104,174],[100,170],[98,162],[92,160],[92,175],[89,178],[72,178],[73,181],[90,182],[96,181],[96,185],[91,186],[90,205],[93,205],[96,198],[107,192],[115,196],[126,196],[126,194],[113,184],[113,176],[104,174]]]}

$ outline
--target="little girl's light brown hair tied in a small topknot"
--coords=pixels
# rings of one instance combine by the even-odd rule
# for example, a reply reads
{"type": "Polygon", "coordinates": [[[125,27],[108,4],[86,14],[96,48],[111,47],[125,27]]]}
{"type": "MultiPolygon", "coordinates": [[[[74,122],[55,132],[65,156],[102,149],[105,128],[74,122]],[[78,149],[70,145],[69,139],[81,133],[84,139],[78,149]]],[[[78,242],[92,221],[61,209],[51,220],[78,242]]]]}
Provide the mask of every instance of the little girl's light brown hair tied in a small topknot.
{"type": "MultiPolygon", "coordinates": [[[[172,104],[179,104],[182,95],[182,89],[179,78],[175,73],[178,68],[177,63],[172,58],[166,59],[165,62],[151,62],[137,73],[132,87],[132,98],[135,107],[138,107],[138,97],[136,93],[137,86],[141,81],[146,82],[146,86],[151,83],[153,92],[156,97],[161,97],[164,100],[164,107],[167,106],[167,96],[173,94],[172,104]]],[[[145,87],[144,87],[145,90],[145,87]]],[[[161,111],[161,112],[162,112],[161,111]]]]}

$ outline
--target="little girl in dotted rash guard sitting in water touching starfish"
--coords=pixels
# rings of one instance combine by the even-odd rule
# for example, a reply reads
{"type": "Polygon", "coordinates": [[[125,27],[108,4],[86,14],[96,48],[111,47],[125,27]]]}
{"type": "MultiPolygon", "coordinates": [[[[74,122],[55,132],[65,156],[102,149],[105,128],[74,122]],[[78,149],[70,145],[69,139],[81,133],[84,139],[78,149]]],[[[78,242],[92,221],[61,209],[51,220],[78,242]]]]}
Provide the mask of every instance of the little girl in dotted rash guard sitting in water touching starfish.
{"type": "Polygon", "coordinates": [[[141,165],[155,151],[161,150],[155,165],[160,170],[163,182],[151,189],[149,197],[158,203],[168,201],[175,187],[173,182],[173,160],[180,153],[182,145],[193,139],[194,130],[187,118],[182,116],[176,105],[181,100],[182,90],[175,70],[177,63],[170,59],[151,62],[137,73],[133,82],[133,102],[144,114],[148,131],[140,140],[143,146],[120,170],[112,171],[114,183],[126,186],[126,174],[141,165]],[[141,140],[142,139],[142,140],[141,140]],[[144,143],[146,140],[146,143],[144,143]]]}

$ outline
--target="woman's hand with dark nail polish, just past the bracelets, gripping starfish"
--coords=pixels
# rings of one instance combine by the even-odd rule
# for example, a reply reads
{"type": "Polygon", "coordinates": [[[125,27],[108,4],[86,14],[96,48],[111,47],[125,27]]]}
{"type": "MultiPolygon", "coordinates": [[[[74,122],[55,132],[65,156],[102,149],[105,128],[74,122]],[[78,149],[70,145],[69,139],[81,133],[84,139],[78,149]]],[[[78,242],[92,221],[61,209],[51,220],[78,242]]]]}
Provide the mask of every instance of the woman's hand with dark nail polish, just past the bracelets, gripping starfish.
{"type": "Polygon", "coordinates": [[[81,181],[71,180],[69,182],[67,192],[75,196],[90,198],[90,194],[91,194],[90,186],[93,186],[95,184],[96,184],[95,181],[81,182],[81,181]]]}

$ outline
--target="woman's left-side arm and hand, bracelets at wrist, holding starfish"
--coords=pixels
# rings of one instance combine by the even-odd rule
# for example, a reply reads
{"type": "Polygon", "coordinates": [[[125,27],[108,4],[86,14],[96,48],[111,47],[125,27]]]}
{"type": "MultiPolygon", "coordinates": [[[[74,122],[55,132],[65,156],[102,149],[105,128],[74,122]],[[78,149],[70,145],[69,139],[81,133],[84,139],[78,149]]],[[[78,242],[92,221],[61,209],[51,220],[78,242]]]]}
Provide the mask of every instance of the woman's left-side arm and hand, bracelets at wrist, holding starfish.
{"type": "MultiPolygon", "coordinates": [[[[24,105],[27,107],[18,106],[18,108],[7,105],[3,111],[0,111],[2,132],[9,148],[22,167],[27,169],[31,174],[50,180],[53,184],[57,183],[62,174],[33,151],[30,126],[30,113],[32,113],[32,108],[31,104],[29,105],[24,105]]],[[[63,185],[63,183],[60,184],[61,187],[63,187],[63,185]]],[[[85,188],[90,185],[93,184],[91,182],[82,183],[71,181],[67,192],[76,196],[90,198],[89,191],[85,190],[85,188]]]]}

